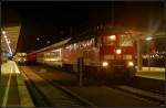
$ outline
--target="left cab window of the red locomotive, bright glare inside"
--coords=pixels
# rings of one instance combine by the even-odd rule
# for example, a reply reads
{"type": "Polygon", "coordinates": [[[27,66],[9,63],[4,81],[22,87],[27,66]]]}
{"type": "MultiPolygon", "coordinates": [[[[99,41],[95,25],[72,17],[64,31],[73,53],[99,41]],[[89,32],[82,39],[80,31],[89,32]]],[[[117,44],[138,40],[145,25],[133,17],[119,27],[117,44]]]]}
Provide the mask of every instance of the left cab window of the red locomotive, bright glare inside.
{"type": "Polygon", "coordinates": [[[114,45],[116,41],[116,35],[104,36],[104,45],[114,45]]]}

